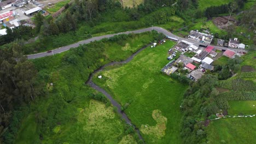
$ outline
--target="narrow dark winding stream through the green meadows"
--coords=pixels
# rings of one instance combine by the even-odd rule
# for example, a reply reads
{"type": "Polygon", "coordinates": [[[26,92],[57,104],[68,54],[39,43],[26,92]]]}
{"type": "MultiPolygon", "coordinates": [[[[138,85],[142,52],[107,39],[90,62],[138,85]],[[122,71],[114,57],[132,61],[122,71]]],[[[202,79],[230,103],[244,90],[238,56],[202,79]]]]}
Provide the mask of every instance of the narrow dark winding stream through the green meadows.
{"type": "Polygon", "coordinates": [[[102,71],[104,68],[106,68],[106,67],[108,67],[110,65],[125,64],[125,63],[130,62],[133,59],[133,57],[135,57],[142,50],[146,49],[149,45],[151,45],[151,44],[148,44],[148,45],[142,47],[141,49],[139,49],[138,51],[133,53],[129,58],[125,59],[124,61],[121,61],[121,62],[110,62],[108,64],[103,65],[102,67],[100,67],[97,70],[95,70],[94,73],[90,74],[88,81],[86,81],[87,85],[89,85],[92,88],[96,89],[96,91],[99,91],[99,92],[103,93],[104,95],[106,95],[106,97],[109,99],[110,103],[113,106],[117,107],[117,112],[122,117],[122,119],[124,119],[127,124],[132,125],[132,127],[135,128],[135,130],[136,130],[136,132],[137,132],[137,134],[139,136],[139,139],[141,139],[143,142],[144,142],[144,140],[143,140],[143,138],[141,136],[141,133],[139,132],[139,129],[136,128],[134,124],[132,124],[131,120],[129,119],[129,117],[127,117],[126,113],[124,111],[121,111],[121,105],[117,101],[115,101],[113,99],[113,97],[109,93],[107,93],[103,88],[97,86],[94,82],[92,82],[92,77],[94,76],[94,74],[98,73],[99,71],[102,71]]]}

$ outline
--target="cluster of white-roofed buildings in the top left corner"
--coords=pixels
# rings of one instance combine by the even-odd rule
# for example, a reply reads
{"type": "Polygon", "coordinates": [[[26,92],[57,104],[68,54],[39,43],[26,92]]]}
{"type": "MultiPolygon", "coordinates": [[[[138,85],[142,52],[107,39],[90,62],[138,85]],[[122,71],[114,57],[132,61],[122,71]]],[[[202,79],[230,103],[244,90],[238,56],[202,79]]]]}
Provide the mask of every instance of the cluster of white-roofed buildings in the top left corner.
{"type": "MultiPolygon", "coordinates": [[[[20,11],[21,15],[32,15],[33,13],[36,13],[42,8],[39,6],[42,6],[42,4],[36,3],[34,1],[27,1],[27,0],[7,0],[0,2],[0,23],[4,27],[14,28],[19,27],[21,25],[20,19],[18,19],[18,16],[20,14],[16,12],[21,7],[25,6],[25,10],[22,8],[22,11],[20,11]],[[26,5],[26,6],[25,6],[26,5]]],[[[19,9],[20,10],[20,9],[19,9]]],[[[26,19],[25,17],[22,17],[23,19],[26,19]]],[[[22,20],[22,19],[21,19],[22,20]]],[[[0,29],[0,35],[5,35],[6,28],[0,29]]]]}

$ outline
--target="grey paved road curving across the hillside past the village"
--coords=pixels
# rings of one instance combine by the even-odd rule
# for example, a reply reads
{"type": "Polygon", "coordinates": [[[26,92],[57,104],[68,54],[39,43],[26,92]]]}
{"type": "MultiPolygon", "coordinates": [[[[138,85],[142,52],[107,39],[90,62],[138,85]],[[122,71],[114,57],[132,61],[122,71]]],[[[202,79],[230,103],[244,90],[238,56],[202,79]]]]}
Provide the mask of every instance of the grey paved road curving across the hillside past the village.
{"type": "MultiPolygon", "coordinates": [[[[94,37],[94,38],[82,40],[82,41],[79,41],[78,43],[75,43],[75,44],[71,44],[71,45],[59,47],[58,49],[54,49],[54,50],[52,50],[51,53],[41,52],[41,53],[36,53],[36,54],[33,54],[33,55],[27,55],[27,58],[28,59],[34,59],[34,58],[54,55],[54,53],[61,53],[61,52],[67,51],[67,50],[69,50],[71,48],[78,47],[79,45],[88,44],[91,41],[97,41],[97,40],[101,40],[103,38],[110,38],[110,37],[113,37],[114,35],[118,35],[118,34],[129,34],[129,33],[135,33],[136,34],[136,33],[148,32],[148,31],[152,31],[152,30],[155,30],[155,31],[160,32],[160,33],[163,33],[166,36],[177,38],[179,41],[187,40],[190,43],[194,43],[194,44],[197,44],[197,45],[202,44],[199,41],[178,37],[177,35],[174,35],[171,32],[168,32],[166,29],[161,28],[161,27],[149,27],[149,28],[138,29],[136,31],[121,32],[121,33],[116,33],[116,34],[108,34],[108,35],[102,35],[100,37],[94,37]]],[[[214,47],[216,47],[217,49],[222,49],[222,50],[231,49],[231,50],[234,50],[234,51],[237,51],[237,52],[247,52],[246,50],[232,49],[232,48],[227,48],[227,47],[222,47],[222,46],[214,46],[214,47]]]]}

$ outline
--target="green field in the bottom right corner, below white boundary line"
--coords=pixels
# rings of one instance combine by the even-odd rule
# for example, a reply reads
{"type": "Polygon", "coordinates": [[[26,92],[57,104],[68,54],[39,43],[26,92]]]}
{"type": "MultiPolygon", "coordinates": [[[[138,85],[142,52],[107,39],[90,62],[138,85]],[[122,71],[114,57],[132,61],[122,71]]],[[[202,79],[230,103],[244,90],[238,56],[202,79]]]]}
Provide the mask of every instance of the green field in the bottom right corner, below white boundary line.
{"type": "Polygon", "coordinates": [[[210,143],[256,143],[256,117],[225,118],[207,127],[210,143]]]}

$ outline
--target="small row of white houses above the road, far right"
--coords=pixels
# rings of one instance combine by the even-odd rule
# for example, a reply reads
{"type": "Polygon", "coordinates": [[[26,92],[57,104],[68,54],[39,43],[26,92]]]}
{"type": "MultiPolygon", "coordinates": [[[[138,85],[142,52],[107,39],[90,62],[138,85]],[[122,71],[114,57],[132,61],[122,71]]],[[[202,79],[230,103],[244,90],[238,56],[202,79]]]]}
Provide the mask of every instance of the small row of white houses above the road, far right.
{"type": "Polygon", "coordinates": [[[245,44],[240,43],[240,41],[237,38],[229,39],[228,43],[225,43],[222,39],[217,39],[217,45],[219,46],[226,46],[226,47],[232,47],[237,49],[245,49],[245,44]]]}

